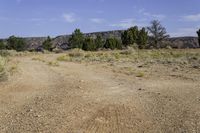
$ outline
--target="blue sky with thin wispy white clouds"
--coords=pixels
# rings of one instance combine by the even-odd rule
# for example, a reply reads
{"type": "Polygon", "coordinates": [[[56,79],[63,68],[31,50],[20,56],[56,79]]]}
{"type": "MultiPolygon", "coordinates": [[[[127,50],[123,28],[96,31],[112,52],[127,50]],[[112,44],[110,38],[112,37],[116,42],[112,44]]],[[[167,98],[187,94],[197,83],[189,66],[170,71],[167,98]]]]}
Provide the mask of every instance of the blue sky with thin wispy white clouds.
{"type": "Polygon", "coordinates": [[[0,38],[126,29],[154,19],[170,36],[196,36],[200,0],[0,0],[0,38]]]}

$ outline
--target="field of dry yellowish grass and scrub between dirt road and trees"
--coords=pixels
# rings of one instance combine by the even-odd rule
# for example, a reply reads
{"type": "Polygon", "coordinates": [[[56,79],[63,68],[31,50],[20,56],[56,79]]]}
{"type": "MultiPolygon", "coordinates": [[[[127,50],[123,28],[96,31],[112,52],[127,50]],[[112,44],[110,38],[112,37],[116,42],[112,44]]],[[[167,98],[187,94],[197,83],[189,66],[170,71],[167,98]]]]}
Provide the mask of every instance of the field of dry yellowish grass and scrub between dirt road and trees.
{"type": "Polygon", "coordinates": [[[200,49],[158,49],[158,50],[126,50],[86,52],[75,49],[61,55],[57,61],[85,62],[93,64],[110,64],[112,71],[134,77],[151,76],[150,69],[154,65],[167,67],[200,68],[200,49]]]}

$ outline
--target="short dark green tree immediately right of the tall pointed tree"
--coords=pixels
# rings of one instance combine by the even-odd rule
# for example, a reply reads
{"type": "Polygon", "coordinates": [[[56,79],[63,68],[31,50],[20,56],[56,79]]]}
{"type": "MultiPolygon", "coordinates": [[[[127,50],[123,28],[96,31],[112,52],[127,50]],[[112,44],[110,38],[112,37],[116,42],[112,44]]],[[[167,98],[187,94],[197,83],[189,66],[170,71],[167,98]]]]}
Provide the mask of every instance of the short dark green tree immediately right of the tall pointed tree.
{"type": "Polygon", "coordinates": [[[85,38],[82,49],[86,51],[95,51],[96,50],[95,40],[89,37],[85,38]]]}

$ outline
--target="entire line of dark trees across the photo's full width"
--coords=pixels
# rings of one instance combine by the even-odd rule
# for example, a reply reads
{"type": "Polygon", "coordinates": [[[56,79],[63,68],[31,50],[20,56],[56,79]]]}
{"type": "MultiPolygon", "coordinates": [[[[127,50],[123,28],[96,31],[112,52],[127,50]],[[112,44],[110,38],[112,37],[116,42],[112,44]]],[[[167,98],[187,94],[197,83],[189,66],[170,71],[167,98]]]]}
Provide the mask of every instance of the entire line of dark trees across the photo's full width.
{"type": "MultiPolygon", "coordinates": [[[[200,44],[200,29],[197,31],[198,41],[200,44]]],[[[80,29],[76,29],[69,38],[70,48],[80,48],[85,51],[96,51],[99,49],[123,49],[128,46],[134,46],[139,49],[147,48],[147,44],[159,48],[159,44],[169,35],[166,32],[165,27],[161,25],[158,20],[153,20],[151,25],[147,28],[143,27],[139,29],[137,26],[131,27],[125,30],[121,34],[121,39],[115,37],[102,38],[101,35],[97,35],[95,38],[86,37],[80,29]]],[[[27,50],[28,44],[23,38],[11,36],[7,39],[6,43],[0,41],[0,50],[27,50]]],[[[48,51],[53,50],[52,39],[48,36],[42,43],[42,48],[48,51]]]]}

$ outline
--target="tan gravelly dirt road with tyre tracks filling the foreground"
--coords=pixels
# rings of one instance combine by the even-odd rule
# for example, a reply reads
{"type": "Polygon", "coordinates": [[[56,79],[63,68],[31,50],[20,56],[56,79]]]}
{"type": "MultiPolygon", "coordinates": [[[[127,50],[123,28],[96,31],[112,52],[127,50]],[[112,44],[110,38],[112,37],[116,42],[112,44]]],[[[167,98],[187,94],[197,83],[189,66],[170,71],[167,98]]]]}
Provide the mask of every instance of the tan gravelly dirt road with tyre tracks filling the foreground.
{"type": "Polygon", "coordinates": [[[137,78],[98,64],[15,60],[18,72],[0,83],[1,133],[200,132],[197,70],[137,78]]]}

